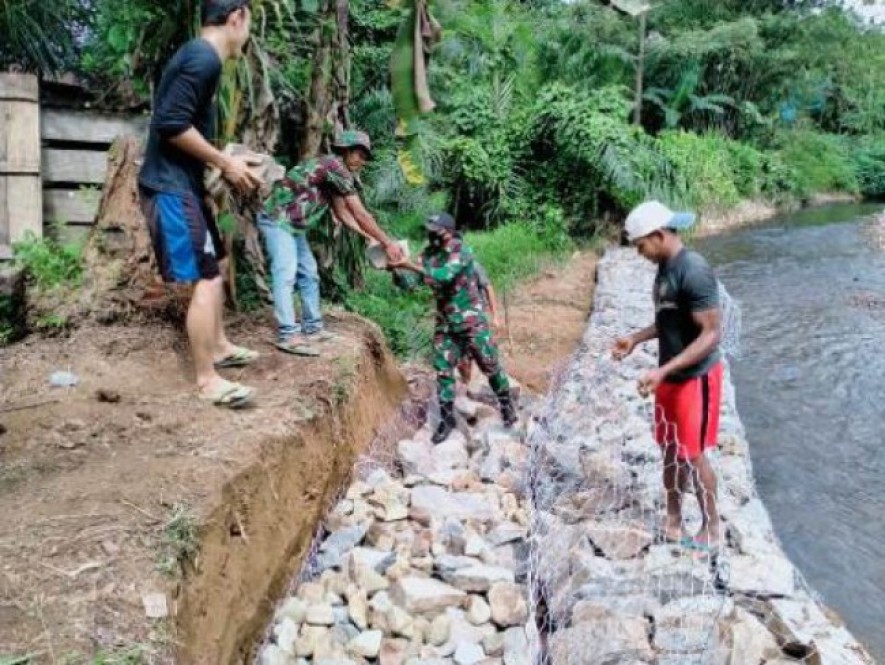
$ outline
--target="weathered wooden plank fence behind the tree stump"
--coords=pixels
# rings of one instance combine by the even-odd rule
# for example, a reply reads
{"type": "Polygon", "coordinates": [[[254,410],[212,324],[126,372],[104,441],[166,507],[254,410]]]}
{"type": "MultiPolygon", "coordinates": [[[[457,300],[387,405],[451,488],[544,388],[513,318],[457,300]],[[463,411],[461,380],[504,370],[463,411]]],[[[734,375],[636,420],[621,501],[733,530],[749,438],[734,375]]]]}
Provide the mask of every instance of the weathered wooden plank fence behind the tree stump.
{"type": "Polygon", "coordinates": [[[145,115],[41,108],[38,99],[35,77],[0,74],[0,259],[28,231],[88,232],[108,148],[118,136],[147,131],[145,115]]]}

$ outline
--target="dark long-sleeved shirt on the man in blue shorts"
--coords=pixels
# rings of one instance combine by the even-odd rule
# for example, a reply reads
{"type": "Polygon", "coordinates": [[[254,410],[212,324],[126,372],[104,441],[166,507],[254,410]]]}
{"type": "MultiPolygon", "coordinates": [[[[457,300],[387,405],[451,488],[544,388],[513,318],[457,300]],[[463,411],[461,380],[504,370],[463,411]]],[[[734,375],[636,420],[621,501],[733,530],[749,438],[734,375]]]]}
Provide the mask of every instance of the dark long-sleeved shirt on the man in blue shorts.
{"type": "Polygon", "coordinates": [[[204,39],[178,49],[166,65],[154,103],[150,136],[138,182],[160,192],[193,192],[202,197],[206,166],[168,139],[191,127],[207,141],[215,139],[215,92],[221,58],[204,39]]]}

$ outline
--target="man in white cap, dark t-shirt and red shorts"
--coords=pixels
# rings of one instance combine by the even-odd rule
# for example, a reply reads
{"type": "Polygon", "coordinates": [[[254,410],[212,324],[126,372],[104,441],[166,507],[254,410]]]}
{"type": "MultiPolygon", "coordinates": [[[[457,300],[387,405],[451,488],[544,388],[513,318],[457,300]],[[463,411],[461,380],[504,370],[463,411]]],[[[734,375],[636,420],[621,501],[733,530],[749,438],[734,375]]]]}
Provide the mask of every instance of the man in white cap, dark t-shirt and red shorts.
{"type": "Polygon", "coordinates": [[[638,344],[659,344],[659,366],[639,380],[639,390],[655,395],[655,438],[664,453],[667,520],[664,539],[702,551],[716,551],[721,536],[716,506],[716,474],[705,452],[716,446],[722,363],[722,314],[713,269],[687,249],[678,231],[690,227],[691,213],[676,213],[658,201],[643,203],[627,217],[630,242],[658,265],[654,284],[655,322],[623,337],[613,349],[621,360],[638,344]],[[683,538],[682,497],[689,476],[703,514],[700,532],[683,538]]]}

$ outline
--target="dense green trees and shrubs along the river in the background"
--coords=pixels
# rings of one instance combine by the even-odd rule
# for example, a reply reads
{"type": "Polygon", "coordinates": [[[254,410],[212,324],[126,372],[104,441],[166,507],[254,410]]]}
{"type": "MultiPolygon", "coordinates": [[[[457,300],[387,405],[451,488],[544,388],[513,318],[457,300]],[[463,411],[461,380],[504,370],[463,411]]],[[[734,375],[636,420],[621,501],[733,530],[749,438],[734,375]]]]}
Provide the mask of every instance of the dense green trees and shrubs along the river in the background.
{"type": "MultiPolygon", "coordinates": [[[[302,141],[316,35],[334,4],[253,2],[289,161],[302,141]]],[[[472,238],[496,281],[606,232],[605,220],[649,195],[702,213],[828,191],[885,197],[885,33],[799,0],[657,3],[639,125],[636,18],[597,0],[433,0],[445,28],[430,68],[438,108],[410,144],[424,183],[409,184],[388,73],[408,4],[349,3],[350,116],[378,145],[368,202],[415,241],[422,217],[442,207],[471,230],[493,231],[472,238]]],[[[144,104],[192,29],[194,6],[11,0],[0,66],[77,70],[110,90],[106,102],[144,104]]],[[[367,280],[339,297],[380,320],[398,351],[420,350],[422,296],[401,294],[386,275],[367,280]]]]}

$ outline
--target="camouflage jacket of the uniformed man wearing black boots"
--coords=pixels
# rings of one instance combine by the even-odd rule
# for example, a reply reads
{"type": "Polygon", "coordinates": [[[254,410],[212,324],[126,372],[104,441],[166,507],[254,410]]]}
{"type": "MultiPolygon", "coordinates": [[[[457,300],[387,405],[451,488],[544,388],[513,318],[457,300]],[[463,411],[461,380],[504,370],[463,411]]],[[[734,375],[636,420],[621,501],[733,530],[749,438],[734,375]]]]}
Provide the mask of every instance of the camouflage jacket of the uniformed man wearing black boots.
{"type": "Polygon", "coordinates": [[[436,297],[437,331],[471,333],[488,328],[482,306],[473,250],[453,237],[423,256],[424,282],[436,297]]]}

